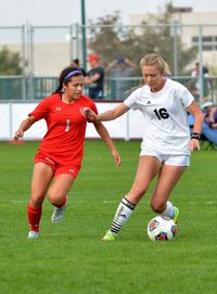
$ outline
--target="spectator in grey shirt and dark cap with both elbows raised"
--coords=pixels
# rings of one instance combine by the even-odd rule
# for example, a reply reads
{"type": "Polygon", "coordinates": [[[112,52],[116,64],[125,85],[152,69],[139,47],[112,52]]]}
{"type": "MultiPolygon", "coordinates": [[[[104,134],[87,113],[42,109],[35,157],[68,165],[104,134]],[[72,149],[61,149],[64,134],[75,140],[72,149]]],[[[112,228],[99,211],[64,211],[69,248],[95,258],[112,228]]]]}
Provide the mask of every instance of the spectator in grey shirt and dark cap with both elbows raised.
{"type": "Polygon", "coordinates": [[[105,72],[113,81],[115,99],[125,99],[129,94],[133,85],[128,78],[133,75],[136,68],[127,57],[118,57],[108,65],[105,72]]]}

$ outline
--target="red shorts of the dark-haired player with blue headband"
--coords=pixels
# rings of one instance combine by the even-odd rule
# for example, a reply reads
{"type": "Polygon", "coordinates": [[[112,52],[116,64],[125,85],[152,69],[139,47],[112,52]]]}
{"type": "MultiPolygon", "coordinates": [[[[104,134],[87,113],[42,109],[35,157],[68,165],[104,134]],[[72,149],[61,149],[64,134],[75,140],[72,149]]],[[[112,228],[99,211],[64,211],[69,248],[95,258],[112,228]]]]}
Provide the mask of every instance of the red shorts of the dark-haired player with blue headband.
{"type": "Polygon", "coordinates": [[[68,174],[75,179],[78,175],[78,171],[80,170],[80,167],[77,165],[60,164],[55,159],[50,158],[49,156],[44,155],[41,152],[38,152],[36,154],[35,164],[36,163],[44,163],[44,164],[49,165],[54,172],[54,177],[56,177],[61,174],[68,174]]]}

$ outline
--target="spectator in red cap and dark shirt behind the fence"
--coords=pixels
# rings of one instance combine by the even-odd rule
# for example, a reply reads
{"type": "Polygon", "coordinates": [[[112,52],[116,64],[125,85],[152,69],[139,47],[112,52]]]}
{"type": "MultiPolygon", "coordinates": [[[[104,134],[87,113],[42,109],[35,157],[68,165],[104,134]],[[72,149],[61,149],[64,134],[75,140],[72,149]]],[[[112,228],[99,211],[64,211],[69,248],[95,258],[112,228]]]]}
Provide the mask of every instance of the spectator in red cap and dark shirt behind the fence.
{"type": "Polygon", "coordinates": [[[88,62],[91,67],[85,79],[85,84],[89,85],[88,95],[93,100],[103,99],[104,69],[99,64],[98,55],[90,55],[88,62]]]}

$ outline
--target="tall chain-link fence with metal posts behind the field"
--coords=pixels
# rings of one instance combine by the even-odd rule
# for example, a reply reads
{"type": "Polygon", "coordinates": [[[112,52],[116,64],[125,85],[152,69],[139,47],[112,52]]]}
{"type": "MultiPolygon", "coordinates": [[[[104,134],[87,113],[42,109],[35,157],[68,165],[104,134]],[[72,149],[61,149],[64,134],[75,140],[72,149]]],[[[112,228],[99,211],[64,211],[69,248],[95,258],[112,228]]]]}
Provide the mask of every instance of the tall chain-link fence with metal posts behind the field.
{"type": "MultiPolygon", "coordinates": [[[[53,92],[61,71],[79,59],[89,69],[87,56],[100,56],[105,69],[104,99],[120,100],[118,90],[140,84],[140,59],[150,52],[162,54],[170,66],[170,77],[186,85],[197,100],[217,102],[217,25],[140,26],[33,26],[0,27],[0,50],[7,47],[21,55],[22,75],[0,76],[0,100],[39,100],[53,92]],[[85,35],[84,35],[85,31],[85,35]],[[84,36],[86,41],[84,42],[84,36]],[[111,63],[127,57],[136,68],[131,74],[112,74],[111,63]],[[199,73],[193,75],[195,63],[199,73]],[[206,72],[204,72],[206,69],[206,72]],[[207,71],[208,69],[208,71],[207,71]]],[[[113,69],[117,69],[116,67],[113,69]]],[[[114,73],[114,72],[113,72],[114,73]]],[[[118,73],[118,72],[117,72],[118,73]]]]}

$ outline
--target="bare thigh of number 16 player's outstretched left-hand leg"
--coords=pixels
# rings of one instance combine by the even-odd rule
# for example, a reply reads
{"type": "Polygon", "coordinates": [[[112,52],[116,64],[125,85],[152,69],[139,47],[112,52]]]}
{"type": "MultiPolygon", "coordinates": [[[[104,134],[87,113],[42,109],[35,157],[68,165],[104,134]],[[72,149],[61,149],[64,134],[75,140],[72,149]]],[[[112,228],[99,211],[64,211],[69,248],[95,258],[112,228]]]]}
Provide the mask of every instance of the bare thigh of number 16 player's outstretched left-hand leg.
{"type": "Polygon", "coordinates": [[[155,156],[140,156],[135,181],[127,195],[129,201],[135,204],[140,201],[140,199],[146,192],[152,179],[159,171],[161,166],[161,162],[155,156]]]}

